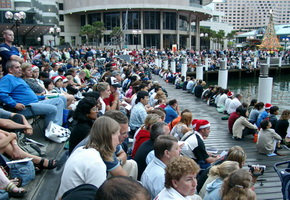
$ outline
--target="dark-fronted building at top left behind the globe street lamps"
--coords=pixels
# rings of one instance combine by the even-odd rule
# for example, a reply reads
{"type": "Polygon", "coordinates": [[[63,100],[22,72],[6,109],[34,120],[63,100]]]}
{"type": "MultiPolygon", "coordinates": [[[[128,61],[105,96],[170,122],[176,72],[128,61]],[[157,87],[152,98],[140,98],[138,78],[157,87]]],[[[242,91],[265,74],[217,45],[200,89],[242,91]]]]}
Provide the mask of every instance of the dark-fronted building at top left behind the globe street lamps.
{"type": "Polygon", "coordinates": [[[56,0],[0,0],[0,31],[10,28],[16,34],[18,32],[19,44],[40,45],[45,44],[44,41],[52,43],[54,38],[47,33],[55,24],[59,24],[56,0]],[[13,13],[24,11],[26,19],[16,26],[13,20],[5,18],[5,12],[8,10],[13,13]],[[37,37],[40,37],[40,41],[36,40],[37,37]]]}

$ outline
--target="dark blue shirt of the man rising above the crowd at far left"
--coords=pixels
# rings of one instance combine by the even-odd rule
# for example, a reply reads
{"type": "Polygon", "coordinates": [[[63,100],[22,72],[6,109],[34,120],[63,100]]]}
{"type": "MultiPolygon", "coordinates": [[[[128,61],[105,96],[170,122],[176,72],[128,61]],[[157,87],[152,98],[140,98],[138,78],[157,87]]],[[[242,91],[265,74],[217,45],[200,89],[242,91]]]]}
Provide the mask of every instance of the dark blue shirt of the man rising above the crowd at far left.
{"type": "Polygon", "coordinates": [[[6,63],[10,60],[10,57],[16,55],[20,56],[18,49],[15,46],[9,46],[6,43],[0,44],[0,56],[2,57],[2,67],[4,74],[7,74],[6,63]]]}

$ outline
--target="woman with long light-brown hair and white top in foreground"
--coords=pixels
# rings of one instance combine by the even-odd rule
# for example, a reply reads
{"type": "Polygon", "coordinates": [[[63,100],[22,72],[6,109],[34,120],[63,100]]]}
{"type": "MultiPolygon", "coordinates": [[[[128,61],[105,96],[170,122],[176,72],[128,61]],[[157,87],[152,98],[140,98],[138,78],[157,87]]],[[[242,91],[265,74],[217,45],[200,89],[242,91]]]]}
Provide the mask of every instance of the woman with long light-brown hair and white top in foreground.
{"type": "Polygon", "coordinates": [[[102,185],[107,177],[104,161],[113,161],[119,135],[120,125],[112,118],[102,116],[94,122],[88,143],[66,161],[56,199],[81,184],[102,185]]]}

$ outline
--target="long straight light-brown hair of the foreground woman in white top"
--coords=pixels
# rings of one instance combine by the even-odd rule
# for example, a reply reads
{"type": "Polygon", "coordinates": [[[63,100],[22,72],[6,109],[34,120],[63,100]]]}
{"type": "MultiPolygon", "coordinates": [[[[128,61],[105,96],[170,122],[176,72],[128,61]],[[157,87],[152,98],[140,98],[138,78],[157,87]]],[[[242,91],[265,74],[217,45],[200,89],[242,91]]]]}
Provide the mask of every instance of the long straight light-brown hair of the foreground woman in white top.
{"type": "Polygon", "coordinates": [[[112,135],[120,130],[120,125],[114,119],[99,117],[94,122],[86,148],[94,148],[100,152],[105,161],[113,161],[115,149],[112,145],[112,135]]]}

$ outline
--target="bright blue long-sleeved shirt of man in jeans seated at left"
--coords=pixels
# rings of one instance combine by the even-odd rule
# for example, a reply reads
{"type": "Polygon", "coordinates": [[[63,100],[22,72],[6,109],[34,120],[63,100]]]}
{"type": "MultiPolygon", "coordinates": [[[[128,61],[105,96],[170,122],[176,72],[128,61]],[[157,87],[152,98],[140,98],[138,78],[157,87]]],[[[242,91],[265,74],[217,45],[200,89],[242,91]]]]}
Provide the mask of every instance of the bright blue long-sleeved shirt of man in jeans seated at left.
{"type": "Polygon", "coordinates": [[[38,97],[22,78],[7,74],[0,80],[0,101],[12,108],[17,103],[26,106],[43,98],[38,97]]]}

